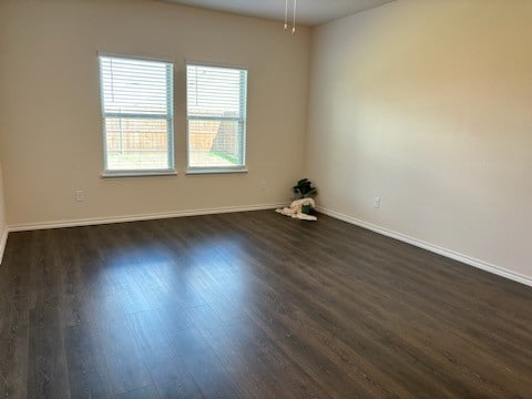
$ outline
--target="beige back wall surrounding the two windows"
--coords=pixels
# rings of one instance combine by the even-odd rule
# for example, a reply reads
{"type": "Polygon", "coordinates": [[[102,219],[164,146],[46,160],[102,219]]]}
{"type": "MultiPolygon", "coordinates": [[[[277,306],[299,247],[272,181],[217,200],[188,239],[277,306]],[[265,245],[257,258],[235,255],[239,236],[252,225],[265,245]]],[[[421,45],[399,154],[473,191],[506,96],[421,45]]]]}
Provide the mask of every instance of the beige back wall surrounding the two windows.
{"type": "Polygon", "coordinates": [[[310,32],[158,1],[0,1],[8,224],[286,202],[301,176],[310,32]],[[96,52],[175,62],[176,177],[102,180],[96,52]],[[248,174],[186,176],[185,60],[248,68],[248,174]],[[260,183],[266,190],[260,191],[260,183]],[[85,202],[74,201],[75,190],[85,202]]]}

